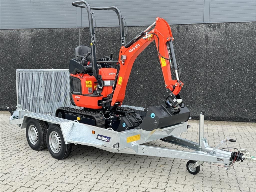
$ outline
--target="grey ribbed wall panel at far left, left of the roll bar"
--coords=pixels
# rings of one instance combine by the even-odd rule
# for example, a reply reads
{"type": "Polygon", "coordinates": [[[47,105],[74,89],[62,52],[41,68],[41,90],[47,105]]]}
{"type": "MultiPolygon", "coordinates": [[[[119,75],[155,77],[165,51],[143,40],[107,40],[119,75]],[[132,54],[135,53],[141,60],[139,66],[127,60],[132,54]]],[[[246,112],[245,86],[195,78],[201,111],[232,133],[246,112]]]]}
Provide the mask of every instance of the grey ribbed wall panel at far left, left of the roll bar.
{"type": "Polygon", "coordinates": [[[1,29],[77,27],[73,1],[1,0],[1,29]]]}

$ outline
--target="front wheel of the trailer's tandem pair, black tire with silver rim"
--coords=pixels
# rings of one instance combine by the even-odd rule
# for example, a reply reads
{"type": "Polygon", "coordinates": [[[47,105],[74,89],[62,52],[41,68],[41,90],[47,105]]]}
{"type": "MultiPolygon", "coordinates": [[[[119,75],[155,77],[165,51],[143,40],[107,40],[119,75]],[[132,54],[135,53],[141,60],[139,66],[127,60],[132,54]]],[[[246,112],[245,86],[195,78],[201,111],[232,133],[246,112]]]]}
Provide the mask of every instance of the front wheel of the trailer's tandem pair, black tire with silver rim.
{"type": "Polygon", "coordinates": [[[47,148],[55,159],[65,159],[71,153],[72,145],[65,144],[59,125],[49,126],[46,135],[47,148]]]}

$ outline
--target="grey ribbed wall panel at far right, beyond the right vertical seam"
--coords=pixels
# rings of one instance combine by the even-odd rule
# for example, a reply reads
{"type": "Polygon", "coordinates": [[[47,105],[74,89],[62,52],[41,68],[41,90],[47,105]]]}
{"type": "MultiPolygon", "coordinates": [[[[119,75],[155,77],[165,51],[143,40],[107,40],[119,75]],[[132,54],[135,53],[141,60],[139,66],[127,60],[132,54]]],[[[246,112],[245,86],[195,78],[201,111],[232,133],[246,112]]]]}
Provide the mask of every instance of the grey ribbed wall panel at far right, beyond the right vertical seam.
{"type": "Polygon", "coordinates": [[[256,21],[255,0],[211,0],[210,22],[256,21]]]}

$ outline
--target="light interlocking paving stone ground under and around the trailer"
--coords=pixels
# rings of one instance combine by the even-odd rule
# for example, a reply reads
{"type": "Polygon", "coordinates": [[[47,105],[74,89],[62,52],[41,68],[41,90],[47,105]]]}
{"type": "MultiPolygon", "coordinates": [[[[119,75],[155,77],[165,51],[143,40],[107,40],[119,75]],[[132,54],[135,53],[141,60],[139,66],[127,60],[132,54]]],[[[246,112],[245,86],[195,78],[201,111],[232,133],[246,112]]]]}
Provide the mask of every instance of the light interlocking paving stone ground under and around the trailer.
{"type": "MultiPolygon", "coordinates": [[[[47,148],[33,151],[24,129],[0,116],[0,191],[256,191],[256,165],[236,162],[230,170],[204,164],[197,175],[186,160],[110,153],[89,146],[73,146],[67,159],[51,157],[47,148]]],[[[197,120],[181,136],[198,141],[197,120]]],[[[215,146],[230,136],[228,146],[255,151],[256,123],[205,121],[205,136],[215,146]]],[[[186,150],[160,140],[149,145],[186,150]]],[[[225,145],[227,146],[227,145],[225,145]]],[[[225,147],[223,146],[223,147],[225,147]]]]}

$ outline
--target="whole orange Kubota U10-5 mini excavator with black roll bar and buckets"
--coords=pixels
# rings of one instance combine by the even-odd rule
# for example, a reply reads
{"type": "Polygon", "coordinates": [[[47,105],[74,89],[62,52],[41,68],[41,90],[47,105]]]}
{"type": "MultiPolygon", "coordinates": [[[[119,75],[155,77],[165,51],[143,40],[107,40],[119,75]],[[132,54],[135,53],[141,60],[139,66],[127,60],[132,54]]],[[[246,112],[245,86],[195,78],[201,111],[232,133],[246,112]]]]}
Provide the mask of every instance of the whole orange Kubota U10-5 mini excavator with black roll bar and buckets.
{"type": "Polygon", "coordinates": [[[152,131],[186,122],[190,112],[179,95],[183,82],[178,77],[169,24],[157,17],[151,26],[125,44],[126,22],[117,7],[90,7],[86,1],[73,2],[72,5],[87,9],[91,44],[90,47],[76,47],[75,58],[69,64],[70,101],[81,108],[58,108],[56,116],[98,127],[111,127],[119,132],[134,128],[152,131]],[[121,41],[118,60],[113,60],[113,53],[110,57],[96,59],[97,26],[91,10],[112,10],[117,14],[121,41]],[[139,113],[123,107],[122,103],[136,57],[154,40],[165,81],[165,97],[159,106],[145,108],[144,113],[139,113]],[[172,79],[171,67],[175,70],[176,80],[172,79]]]}

